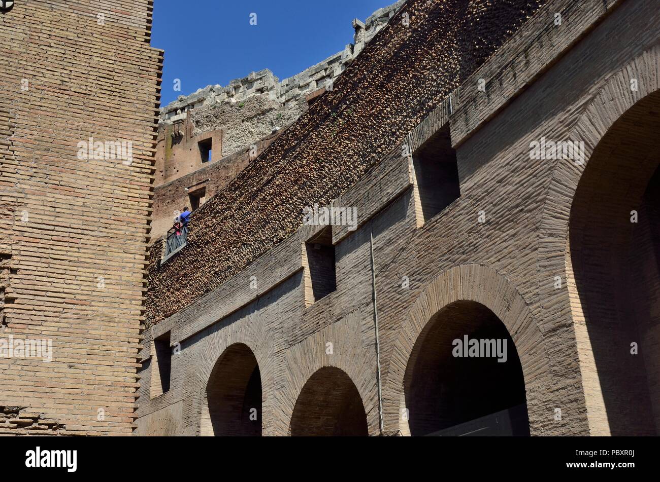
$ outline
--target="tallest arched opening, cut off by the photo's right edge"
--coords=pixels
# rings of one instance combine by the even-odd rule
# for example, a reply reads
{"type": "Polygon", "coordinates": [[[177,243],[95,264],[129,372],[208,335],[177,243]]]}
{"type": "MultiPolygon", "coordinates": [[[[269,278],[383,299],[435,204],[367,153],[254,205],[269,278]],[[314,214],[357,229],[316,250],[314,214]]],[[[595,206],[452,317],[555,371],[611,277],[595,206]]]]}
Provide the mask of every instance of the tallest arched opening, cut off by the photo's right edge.
{"type": "Polygon", "coordinates": [[[571,207],[568,270],[592,433],[659,433],[658,132],[655,92],[603,136],[571,207]]]}

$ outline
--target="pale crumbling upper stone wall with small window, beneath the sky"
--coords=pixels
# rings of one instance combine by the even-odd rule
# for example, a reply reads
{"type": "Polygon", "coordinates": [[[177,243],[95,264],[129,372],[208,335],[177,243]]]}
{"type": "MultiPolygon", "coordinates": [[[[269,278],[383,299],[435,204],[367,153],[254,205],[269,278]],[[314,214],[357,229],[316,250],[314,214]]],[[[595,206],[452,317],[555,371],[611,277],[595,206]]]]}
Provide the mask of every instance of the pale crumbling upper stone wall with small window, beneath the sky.
{"type": "MultiPolygon", "coordinates": [[[[170,151],[162,135],[170,130],[173,124],[176,128],[182,122],[190,122],[194,126],[193,136],[202,136],[221,129],[222,149],[215,153],[218,159],[257,143],[282,126],[296,121],[307,110],[308,101],[312,97],[330,89],[331,84],[360,54],[365,45],[389,23],[403,3],[403,0],[399,0],[376,11],[366,23],[353,20],[354,43],[282,82],[266,68],[251,72],[244,78],[234,79],[226,87],[207,86],[194,94],[181,95],[176,101],[163,107],[156,154],[156,186],[201,167],[199,159],[189,159],[187,155],[174,159],[176,154],[180,154],[180,149],[170,151]],[[160,165],[162,169],[158,169],[160,165]]],[[[192,157],[195,157],[196,149],[192,150],[192,157]]]]}

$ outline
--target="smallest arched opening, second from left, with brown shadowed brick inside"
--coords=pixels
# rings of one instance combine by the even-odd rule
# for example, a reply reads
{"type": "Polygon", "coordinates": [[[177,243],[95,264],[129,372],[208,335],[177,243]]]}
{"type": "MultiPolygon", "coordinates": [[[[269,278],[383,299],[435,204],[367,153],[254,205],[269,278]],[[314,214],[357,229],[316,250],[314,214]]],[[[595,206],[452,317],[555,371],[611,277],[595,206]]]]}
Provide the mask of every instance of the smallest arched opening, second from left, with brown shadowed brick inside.
{"type": "Polygon", "coordinates": [[[323,367],[302,388],[291,417],[291,435],[369,435],[362,397],[346,373],[323,367]]]}

